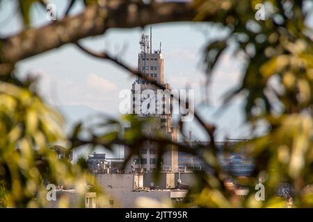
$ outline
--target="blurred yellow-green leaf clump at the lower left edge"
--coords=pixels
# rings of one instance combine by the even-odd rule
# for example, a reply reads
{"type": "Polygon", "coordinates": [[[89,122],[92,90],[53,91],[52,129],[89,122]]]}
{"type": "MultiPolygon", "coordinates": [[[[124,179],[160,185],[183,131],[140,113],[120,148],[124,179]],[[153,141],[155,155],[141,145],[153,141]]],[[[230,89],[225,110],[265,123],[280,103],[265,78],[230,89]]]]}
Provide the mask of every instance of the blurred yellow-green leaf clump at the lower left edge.
{"type": "Polygon", "coordinates": [[[86,173],[49,147],[64,139],[63,119],[20,84],[0,81],[0,205],[40,207],[47,183],[77,188],[86,173]]]}

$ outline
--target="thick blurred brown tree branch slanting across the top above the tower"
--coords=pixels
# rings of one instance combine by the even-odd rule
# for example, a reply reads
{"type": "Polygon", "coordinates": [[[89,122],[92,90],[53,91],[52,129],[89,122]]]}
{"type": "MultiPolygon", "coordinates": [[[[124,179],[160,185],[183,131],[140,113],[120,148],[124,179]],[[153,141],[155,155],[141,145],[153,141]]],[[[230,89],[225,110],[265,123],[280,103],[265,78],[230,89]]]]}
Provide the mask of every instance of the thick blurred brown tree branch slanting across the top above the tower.
{"type": "MultiPolygon", "coordinates": [[[[131,3],[99,1],[81,14],[65,17],[41,28],[29,28],[5,38],[0,44],[0,68],[24,58],[77,42],[84,37],[101,35],[108,28],[134,28],[161,22],[191,21],[196,11],[190,3],[131,3]]],[[[1,69],[0,69],[1,70],[1,69]]],[[[1,71],[0,71],[1,74],[1,71]]]]}

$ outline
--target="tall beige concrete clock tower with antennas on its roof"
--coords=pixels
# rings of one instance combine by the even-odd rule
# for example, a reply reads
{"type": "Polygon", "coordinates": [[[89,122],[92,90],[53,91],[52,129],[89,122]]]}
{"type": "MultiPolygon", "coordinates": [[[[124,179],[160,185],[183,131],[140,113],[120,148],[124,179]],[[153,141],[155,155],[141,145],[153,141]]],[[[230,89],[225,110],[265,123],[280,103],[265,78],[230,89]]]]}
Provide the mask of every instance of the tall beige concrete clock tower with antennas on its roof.
{"type": "MultiPolygon", "coordinates": [[[[159,83],[166,90],[158,89],[155,85],[148,83],[143,78],[137,78],[132,84],[131,108],[139,118],[152,119],[145,126],[145,133],[153,135],[156,130],[164,133],[168,139],[177,142],[177,128],[172,126],[172,96],[170,85],[166,83],[164,76],[164,59],[161,53],[161,42],[159,50],[152,51],[152,31],[149,35],[141,35],[139,42],[141,52],[138,53],[138,71],[147,78],[159,83]]],[[[127,129],[126,129],[127,130],[127,129]]],[[[129,148],[125,147],[125,157],[129,154],[129,148]]],[[[127,167],[129,171],[154,171],[157,167],[157,147],[155,144],[145,144],[141,148],[141,156],[134,156],[127,167]]],[[[163,155],[162,170],[178,171],[178,152],[175,146],[171,146],[163,155]]]]}

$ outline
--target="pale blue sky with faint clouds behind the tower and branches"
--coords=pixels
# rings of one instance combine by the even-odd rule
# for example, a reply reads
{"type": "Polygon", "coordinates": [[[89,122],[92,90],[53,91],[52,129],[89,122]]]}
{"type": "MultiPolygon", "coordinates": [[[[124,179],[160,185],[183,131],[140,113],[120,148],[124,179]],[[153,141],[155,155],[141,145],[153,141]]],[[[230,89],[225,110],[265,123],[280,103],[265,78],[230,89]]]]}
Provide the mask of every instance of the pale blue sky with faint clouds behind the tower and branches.
{"type": "MultiPolygon", "coordinates": [[[[0,8],[0,35],[12,35],[20,30],[19,15],[11,16],[15,1],[4,1],[8,6],[0,8]],[[5,21],[5,22],[2,22],[5,21]]],[[[67,1],[51,1],[56,3],[57,15],[62,15],[67,1]]],[[[74,9],[78,13],[81,7],[74,9]]],[[[47,23],[45,10],[35,6],[32,11],[35,26],[47,23]]],[[[110,29],[104,35],[83,40],[83,44],[95,51],[106,49],[112,55],[118,55],[132,67],[136,67],[140,51],[138,43],[141,33],[149,34],[145,29],[110,29]]],[[[165,60],[166,80],[172,88],[184,88],[188,84],[195,89],[196,103],[204,98],[204,69],[202,67],[202,46],[214,38],[225,35],[225,31],[213,24],[159,24],[152,26],[153,49],[159,49],[162,42],[162,53],[165,60]]],[[[221,96],[238,85],[240,59],[226,55],[214,71],[214,78],[209,85],[210,105],[198,106],[202,117],[218,127],[217,139],[248,138],[249,130],[243,127],[243,99],[237,99],[221,115],[213,113],[220,107],[221,96]]],[[[118,94],[122,89],[130,89],[134,77],[125,73],[111,62],[91,58],[73,45],[65,45],[59,49],[23,60],[17,64],[21,78],[26,74],[40,76],[40,92],[54,106],[61,108],[69,122],[85,117],[92,110],[105,112],[118,117],[118,105],[121,101],[118,94]],[[69,106],[77,106],[75,108],[69,106]],[[82,108],[83,107],[83,108],[82,108]],[[90,108],[90,109],[89,109],[90,108]],[[74,112],[69,114],[68,112],[74,112]],[[89,110],[89,111],[88,111],[89,110]],[[72,119],[71,119],[72,118],[72,119]]],[[[193,139],[205,139],[204,133],[193,121],[187,124],[193,131],[193,139]]]]}

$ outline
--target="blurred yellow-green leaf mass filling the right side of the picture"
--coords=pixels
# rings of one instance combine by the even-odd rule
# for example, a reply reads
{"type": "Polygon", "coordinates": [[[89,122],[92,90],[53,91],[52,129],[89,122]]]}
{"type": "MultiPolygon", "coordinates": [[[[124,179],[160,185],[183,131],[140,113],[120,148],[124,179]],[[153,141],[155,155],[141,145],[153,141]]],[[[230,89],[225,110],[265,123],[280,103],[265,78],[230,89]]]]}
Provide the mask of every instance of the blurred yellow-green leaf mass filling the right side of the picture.
{"type": "MultiPolygon", "coordinates": [[[[200,15],[211,10],[207,1],[195,2],[200,15]]],[[[257,203],[255,192],[250,191],[244,203],[248,207],[275,206],[278,184],[287,181],[294,188],[296,205],[312,206],[312,194],[307,198],[303,192],[312,184],[313,32],[307,26],[311,23],[312,27],[307,17],[312,15],[312,5],[287,0],[228,3],[231,9],[220,12],[217,21],[229,35],[207,45],[207,74],[210,78],[226,51],[243,56],[241,86],[225,102],[236,94],[245,95],[247,121],[255,128],[260,122],[268,126],[263,137],[245,144],[257,163],[252,177],[266,178],[266,201],[257,203]],[[264,20],[255,19],[257,3],[265,6],[264,20]]]]}

